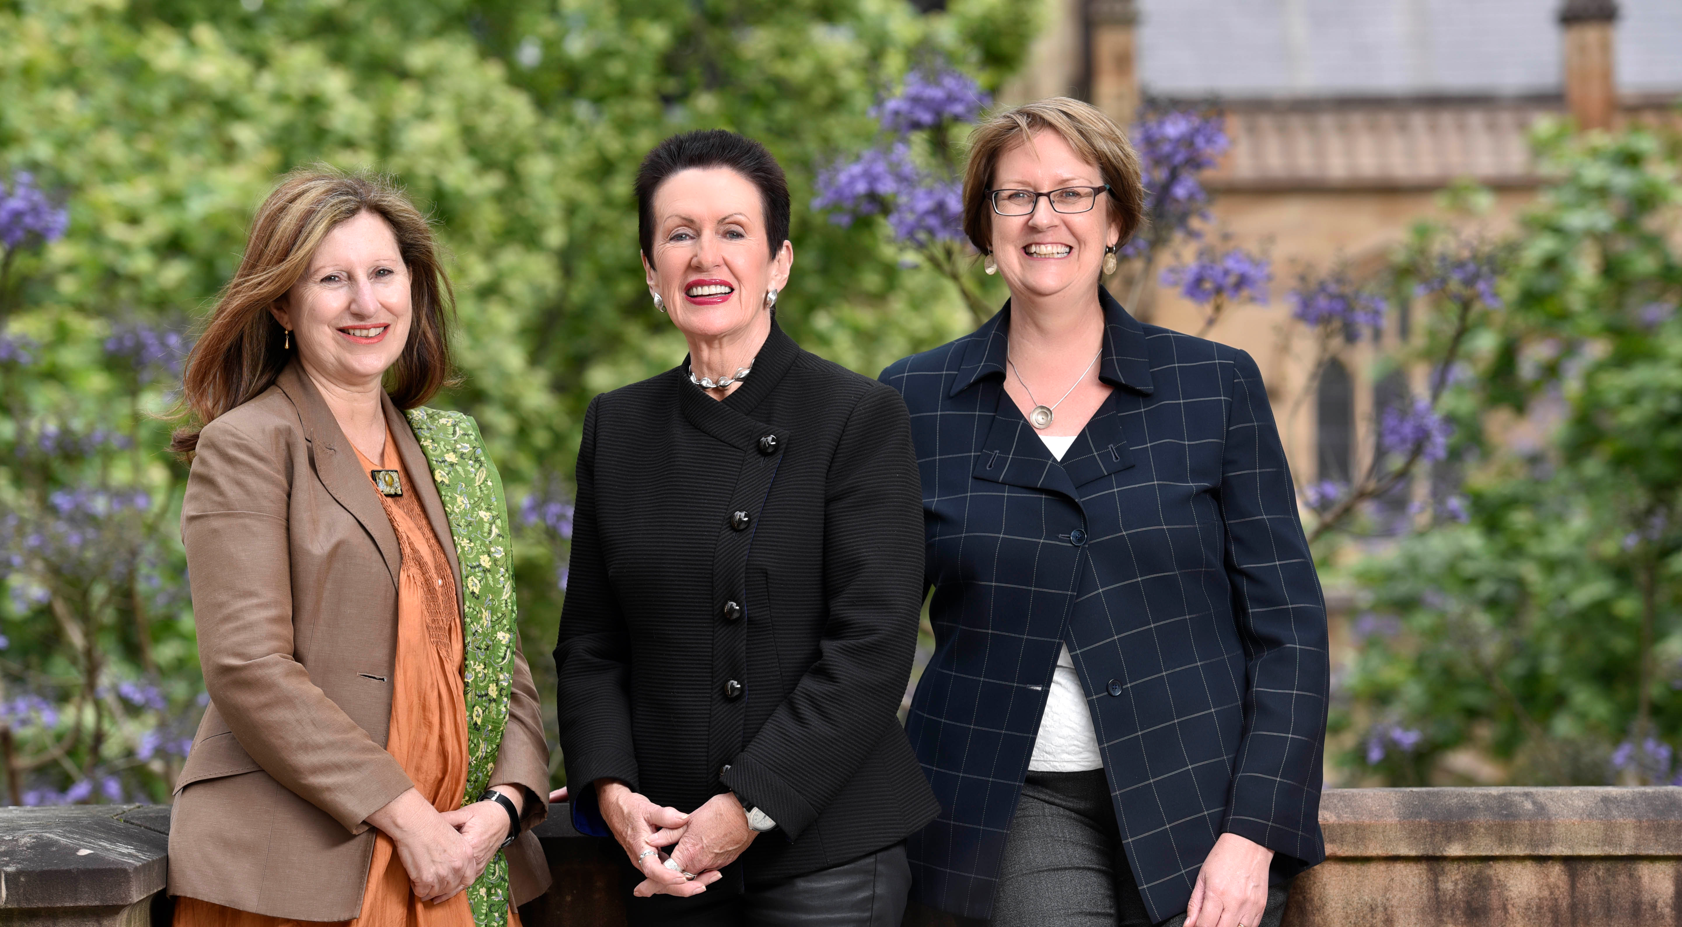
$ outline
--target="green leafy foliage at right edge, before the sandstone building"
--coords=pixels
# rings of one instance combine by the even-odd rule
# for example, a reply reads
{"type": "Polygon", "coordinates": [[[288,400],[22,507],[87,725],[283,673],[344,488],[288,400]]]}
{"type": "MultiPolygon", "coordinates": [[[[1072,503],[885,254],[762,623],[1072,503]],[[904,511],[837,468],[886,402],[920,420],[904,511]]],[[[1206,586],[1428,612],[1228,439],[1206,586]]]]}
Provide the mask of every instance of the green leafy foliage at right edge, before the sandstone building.
{"type": "Polygon", "coordinates": [[[1537,143],[1559,180],[1470,352],[1470,520],[1354,569],[1373,611],[1337,712],[1359,735],[1344,762],[1393,782],[1462,747],[1514,781],[1662,782],[1682,737],[1677,150],[1556,126],[1537,143]],[[1388,749],[1386,725],[1423,739],[1388,749]]]}

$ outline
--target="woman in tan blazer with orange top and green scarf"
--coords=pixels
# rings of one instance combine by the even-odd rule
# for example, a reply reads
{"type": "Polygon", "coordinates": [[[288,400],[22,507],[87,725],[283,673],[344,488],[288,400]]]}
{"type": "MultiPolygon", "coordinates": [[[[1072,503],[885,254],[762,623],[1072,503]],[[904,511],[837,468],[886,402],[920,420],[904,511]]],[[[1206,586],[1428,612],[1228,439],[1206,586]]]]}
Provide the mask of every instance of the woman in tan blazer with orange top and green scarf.
{"type": "Polygon", "coordinates": [[[420,407],[449,298],[402,193],[299,172],[193,348],[205,424],[175,448],[210,707],[177,782],[177,927],[518,927],[547,888],[501,481],[471,419],[420,407]]]}

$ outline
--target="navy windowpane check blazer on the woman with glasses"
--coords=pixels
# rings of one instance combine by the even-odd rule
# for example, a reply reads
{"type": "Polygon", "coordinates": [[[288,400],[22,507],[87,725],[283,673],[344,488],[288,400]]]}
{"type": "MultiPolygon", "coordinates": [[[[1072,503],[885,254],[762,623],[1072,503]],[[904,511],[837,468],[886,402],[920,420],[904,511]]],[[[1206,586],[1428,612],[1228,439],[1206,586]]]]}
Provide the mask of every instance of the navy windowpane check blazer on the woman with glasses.
{"type": "Polygon", "coordinates": [[[1058,463],[1004,394],[1011,308],[888,367],[912,412],[935,653],[907,734],[942,814],[927,905],[987,917],[1060,643],[1152,920],[1231,831],[1325,856],[1325,601],[1262,373],[1100,289],[1117,387],[1058,463]]]}

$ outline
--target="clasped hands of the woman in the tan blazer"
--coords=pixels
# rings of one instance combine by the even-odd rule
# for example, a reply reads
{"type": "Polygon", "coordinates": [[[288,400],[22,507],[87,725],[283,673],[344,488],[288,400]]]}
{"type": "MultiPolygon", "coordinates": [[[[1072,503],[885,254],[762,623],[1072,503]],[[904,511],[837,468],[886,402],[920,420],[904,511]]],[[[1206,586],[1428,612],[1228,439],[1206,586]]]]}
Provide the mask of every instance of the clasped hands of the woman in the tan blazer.
{"type": "MultiPolygon", "coordinates": [[[[496,791],[523,808],[523,789],[496,791]]],[[[410,890],[434,905],[473,885],[508,838],[508,813],[495,801],[439,811],[414,789],[368,814],[368,824],[392,838],[410,890]]]]}

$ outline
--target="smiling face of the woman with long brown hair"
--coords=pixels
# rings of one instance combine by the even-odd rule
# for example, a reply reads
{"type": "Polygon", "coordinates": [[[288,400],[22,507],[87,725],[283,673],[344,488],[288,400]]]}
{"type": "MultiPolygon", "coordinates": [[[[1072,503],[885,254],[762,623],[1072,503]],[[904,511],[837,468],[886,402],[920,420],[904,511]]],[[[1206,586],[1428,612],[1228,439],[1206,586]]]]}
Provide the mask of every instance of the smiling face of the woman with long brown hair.
{"type": "Polygon", "coordinates": [[[321,239],[303,278],[272,313],[293,331],[293,347],[311,375],[367,390],[409,342],[409,283],[392,227],[378,214],[360,212],[321,239]]]}

